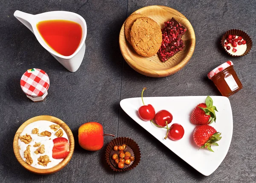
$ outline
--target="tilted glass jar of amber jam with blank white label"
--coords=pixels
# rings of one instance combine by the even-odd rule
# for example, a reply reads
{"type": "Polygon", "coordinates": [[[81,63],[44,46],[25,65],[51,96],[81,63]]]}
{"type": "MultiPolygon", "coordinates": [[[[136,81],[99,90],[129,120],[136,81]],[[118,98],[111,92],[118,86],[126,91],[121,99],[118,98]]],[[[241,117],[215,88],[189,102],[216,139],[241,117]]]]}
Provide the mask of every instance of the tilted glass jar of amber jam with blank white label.
{"type": "Polygon", "coordinates": [[[207,76],[213,81],[222,96],[229,97],[243,87],[233,68],[232,61],[227,61],[224,64],[219,65],[209,72],[207,76]]]}

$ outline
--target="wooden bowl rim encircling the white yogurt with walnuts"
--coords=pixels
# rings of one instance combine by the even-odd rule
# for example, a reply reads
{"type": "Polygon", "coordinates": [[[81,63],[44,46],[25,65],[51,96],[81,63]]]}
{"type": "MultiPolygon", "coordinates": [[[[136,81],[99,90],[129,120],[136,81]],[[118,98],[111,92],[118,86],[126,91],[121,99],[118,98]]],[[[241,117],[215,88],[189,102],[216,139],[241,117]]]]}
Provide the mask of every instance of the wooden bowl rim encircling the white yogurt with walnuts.
{"type": "Polygon", "coordinates": [[[61,119],[55,118],[53,116],[35,116],[29,120],[27,120],[26,122],[24,122],[20,128],[17,130],[15,137],[13,139],[13,151],[15,154],[15,157],[17,158],[18,162],[24,167],[26,168],[26,170],[35,173],[35,174],[53,174],[59,170],[61,170],[62,168],[64,168],[64,166],[67,165],[67,163],[70,161],[73,152],[74,152],[74,148],[75,148],[75,141],[74,141],[74,137],[72,134],[72,131],[70,130],[70,128],[66,125],[66,123],[64,123],[63,121],[61,121],[61,119]],[[20,156],[20,150],[19,150],[19,145],[18,145],[18,139],[20,134],[22,133],[23,129],[29,125],[32,122],[36,122],[36,121],[40,121],[40,120],[47,120],[50,122],[54,122],[58,125],[61,126],[61,128],[64,129],[64,131],[67,134],[67,137],[69,139],[70,142],[70,152],[68,154],[67,157],[65,157],[58,165],[52,167],[52,168],[47,168],[47,169],[39,169],[39,168],[34,168],[30,165],[28,165],[20,156]]]}

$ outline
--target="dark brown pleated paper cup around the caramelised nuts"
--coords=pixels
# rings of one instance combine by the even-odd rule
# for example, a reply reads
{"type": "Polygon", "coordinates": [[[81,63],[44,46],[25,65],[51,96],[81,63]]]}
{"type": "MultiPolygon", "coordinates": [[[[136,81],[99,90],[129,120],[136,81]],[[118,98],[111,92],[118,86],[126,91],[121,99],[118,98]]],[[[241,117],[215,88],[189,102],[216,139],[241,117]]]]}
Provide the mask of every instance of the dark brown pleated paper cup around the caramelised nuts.
{"type": "Polygon", "coordinates": [[[106,148],[106,161],[108,165],[113,169],[113,171],[120,172],[120,171],[127,171],[135,168],[140,163],[140,148],[138,144],[128,137],[117,137],[116,139],[111,140],[109,142],[107,148],[106,148]],[[113,154],[113,147],[115,145],[127,145],[127,151],[131,153],[131,155],[134,155],[134,161],[131,161],[130,165],[125,165],[124,168],[118,168],[118,166],[113,162],[112,160],[112,154],[113,154]]]}

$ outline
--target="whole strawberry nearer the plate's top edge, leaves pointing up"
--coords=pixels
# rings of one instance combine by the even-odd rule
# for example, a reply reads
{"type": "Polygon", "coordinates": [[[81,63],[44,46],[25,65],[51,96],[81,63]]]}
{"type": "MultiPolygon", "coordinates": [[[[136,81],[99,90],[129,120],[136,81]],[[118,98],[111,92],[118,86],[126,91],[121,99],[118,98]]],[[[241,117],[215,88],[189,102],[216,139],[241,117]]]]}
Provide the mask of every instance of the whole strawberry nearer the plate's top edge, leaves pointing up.
{"type": "Polygon", "coordinates": [[[210,96],[207,96],[205,103],[198,104],[192,111],[190,121],[195,125],[209,125],[213,121],[216,122],[215,106],[210,96]]]}

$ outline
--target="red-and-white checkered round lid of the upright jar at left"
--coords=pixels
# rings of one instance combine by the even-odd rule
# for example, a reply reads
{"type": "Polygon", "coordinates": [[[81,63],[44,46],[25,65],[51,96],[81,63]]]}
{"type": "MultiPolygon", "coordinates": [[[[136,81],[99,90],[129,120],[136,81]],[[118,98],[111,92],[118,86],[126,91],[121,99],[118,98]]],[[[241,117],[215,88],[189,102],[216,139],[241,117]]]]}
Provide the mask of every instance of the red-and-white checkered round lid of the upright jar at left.
{"type": "Polygon", "coordinates": [[[49,77],[41,69],[29,69],[20,79],[20,86],[28,96],[38,97],[44,95],[50,85],[49,77]]]}

